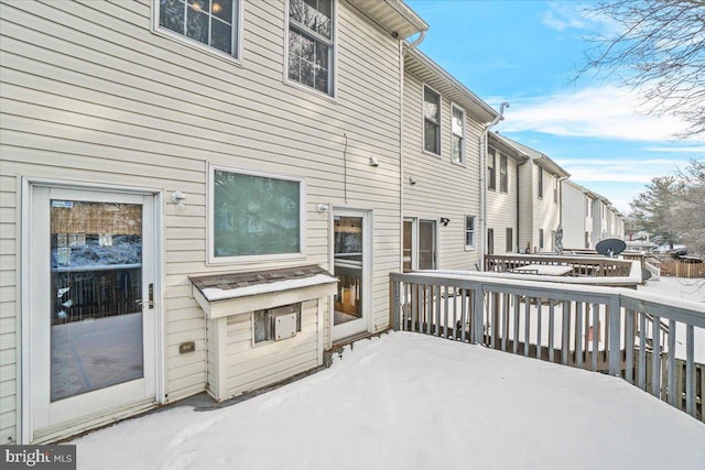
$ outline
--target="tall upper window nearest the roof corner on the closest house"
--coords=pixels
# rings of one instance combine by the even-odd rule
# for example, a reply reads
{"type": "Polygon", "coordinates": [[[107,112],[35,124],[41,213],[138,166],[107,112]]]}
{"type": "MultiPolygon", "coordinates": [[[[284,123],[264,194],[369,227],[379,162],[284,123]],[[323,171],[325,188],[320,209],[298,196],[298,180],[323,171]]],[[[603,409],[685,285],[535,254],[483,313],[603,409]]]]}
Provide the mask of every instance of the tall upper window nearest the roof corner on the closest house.
{"type": "Polygon", "coordinates": [[[290,80],[333,96],[333,0],[289,1],[290,80]]]}

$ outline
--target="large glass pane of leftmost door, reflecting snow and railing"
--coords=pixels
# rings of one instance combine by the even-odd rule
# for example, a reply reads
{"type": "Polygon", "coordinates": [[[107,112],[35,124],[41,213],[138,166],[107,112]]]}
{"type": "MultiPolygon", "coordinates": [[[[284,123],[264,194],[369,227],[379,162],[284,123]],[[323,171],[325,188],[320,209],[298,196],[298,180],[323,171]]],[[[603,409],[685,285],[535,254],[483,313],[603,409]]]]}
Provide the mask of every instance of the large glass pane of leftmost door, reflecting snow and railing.
{"type": "Polygon", "coordinates": [[[141,379],[142,205],[51,199],[51,402],[141,379]]]}

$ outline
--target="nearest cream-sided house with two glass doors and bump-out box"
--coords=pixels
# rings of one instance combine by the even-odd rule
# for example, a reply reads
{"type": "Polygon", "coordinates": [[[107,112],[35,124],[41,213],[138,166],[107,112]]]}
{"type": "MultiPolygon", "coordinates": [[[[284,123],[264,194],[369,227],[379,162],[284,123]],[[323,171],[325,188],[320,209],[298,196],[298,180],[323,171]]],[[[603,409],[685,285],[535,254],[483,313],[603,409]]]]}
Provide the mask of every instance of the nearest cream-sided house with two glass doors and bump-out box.
{"type": "MultiPolygon", "coordinates": [[[[409,192],[401,51],[427,29],[413,11],[140,0],[0,13],[2,444],[204,390],[225,400],[389,326],[409,192]]],[[[492,112],[434,89],[476,140],[469,116],[492,112]]],[[[477,178],[442,132],[444,164],[477,178]]],[[[417,172],[421,190],[438,171],[417,172]]],[[[455,230],[454,214],[433,216],[455,230]]]]}

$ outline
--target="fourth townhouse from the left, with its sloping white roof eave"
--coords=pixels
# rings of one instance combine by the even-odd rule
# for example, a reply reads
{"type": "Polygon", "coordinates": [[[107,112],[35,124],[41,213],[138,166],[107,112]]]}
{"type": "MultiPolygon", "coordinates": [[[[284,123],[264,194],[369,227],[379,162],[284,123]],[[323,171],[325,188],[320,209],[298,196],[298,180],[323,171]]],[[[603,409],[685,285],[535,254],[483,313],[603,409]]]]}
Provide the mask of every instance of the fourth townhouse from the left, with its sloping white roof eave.
{"type": "Polygon", "coordinates": [[[502,136],[529,161],[519,166],[519,251],[555,250],[561,225],[561,182],[571,176],[547,155],[502,136]]]}

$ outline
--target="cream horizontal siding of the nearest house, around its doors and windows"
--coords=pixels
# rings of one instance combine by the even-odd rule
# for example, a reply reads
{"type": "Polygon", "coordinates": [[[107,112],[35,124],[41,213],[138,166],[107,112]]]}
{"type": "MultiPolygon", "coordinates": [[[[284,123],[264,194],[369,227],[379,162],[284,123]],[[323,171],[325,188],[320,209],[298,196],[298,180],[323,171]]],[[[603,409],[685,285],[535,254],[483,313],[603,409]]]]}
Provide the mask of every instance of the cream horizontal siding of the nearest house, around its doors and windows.
{"type": "Polygon", "coordinates": [[[316,204],[373,211],[375,330],[389,325],[388,273],[401,264],[398,41],[338,1],[334,100],[284,83],[283,2],[245,1],[241,65],[153,33],[151,10],[148,0],[0,4],[3,442],[17,439],[18,423],[21,176],[165,193],[169,402],[207,381],[204,313],[188,275],[304,263],[332,271],[332,215],[316,204]],[[305,178],[306,258],[208,266],[209,162],[305,178]],[[169,199],[175,190],[186,195],[184,210],[169,199]],[[183,341],[196,351],[180,354],[183,341]]]}

